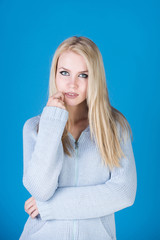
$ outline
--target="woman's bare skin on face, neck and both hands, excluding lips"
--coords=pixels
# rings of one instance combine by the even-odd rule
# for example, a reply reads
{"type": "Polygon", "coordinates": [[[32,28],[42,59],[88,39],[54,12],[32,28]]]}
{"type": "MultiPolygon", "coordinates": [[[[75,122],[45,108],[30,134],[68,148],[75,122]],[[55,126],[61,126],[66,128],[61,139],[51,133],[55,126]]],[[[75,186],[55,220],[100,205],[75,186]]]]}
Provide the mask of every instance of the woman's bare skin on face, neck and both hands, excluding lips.
{"type": "MultiPolygon", "coordinates": [[[[77,140],[81,132],[88,126],[88,108],[86,94],[88,87],[88,72],[84,58],[72,51],[62,53],[58,60],[56,73],[58,91],[48,99],[47,106],[56,106],[69,112],[70,132],[77,140]],[[66,92],[75,92],[78,96],[68,98],[66,92]],[[56,99],[59,98],[60,99],[56,99]]],[[[25,202],[25,211],[35,218],[39,212],[33,197],[25,202]]]]}

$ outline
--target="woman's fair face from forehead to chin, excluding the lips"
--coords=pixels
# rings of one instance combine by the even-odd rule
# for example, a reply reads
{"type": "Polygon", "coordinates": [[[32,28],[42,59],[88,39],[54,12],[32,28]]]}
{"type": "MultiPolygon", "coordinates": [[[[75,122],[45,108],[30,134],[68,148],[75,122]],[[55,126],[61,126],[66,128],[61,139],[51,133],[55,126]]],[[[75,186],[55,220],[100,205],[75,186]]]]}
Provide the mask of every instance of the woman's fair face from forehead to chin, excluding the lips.
{"type": "Polygon", "coordinates": [[[56,73],[57,90],[64,93],[67,105],[75,106],[86,99],[88,87],[88,69],[84,58],[72,51],[63,52],[58,60],[56,73]],[[73,92],[77,97],[69,97],[73,92]]]}

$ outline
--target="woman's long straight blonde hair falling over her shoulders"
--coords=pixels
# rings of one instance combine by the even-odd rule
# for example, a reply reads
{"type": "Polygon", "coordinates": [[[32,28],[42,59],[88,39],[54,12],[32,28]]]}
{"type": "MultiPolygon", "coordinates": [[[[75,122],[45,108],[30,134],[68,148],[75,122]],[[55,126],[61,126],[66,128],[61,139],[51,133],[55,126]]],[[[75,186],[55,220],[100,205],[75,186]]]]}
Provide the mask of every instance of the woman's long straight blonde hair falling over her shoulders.
{"type": "MultiPolygon", "coordinates": [[[[86,103],[91,140],[94,135],[105,165],[108,165],[110,169],[114,166],[120,167],[120,158],[125,157],[120,141],[126,141],[128,135],[126,133],[129,130],[132,136],[132,131],[125,116],[110,104],[102,56],[92,40],[83,36],[73,36],[64,40],[58,46],[51,64],[49,97],[57,92],[55,78],[58,59],[66,50],[71,50],[83,56],[88,67],[86,103]]],[[[68,129],[69,122],[67,121],[62,135],[62,144],[64,152],[71,156],[69,150],[73,150],[73,148],[67,135],[68,129]]]]}

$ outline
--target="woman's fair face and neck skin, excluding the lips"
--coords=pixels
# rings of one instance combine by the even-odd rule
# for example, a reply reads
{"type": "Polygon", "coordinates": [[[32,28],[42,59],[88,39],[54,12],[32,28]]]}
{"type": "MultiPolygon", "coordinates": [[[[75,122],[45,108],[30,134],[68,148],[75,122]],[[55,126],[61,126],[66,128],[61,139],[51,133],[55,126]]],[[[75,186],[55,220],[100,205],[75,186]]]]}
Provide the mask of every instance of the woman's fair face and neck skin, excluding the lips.
{"type": "Polygon", "coordinates": [[[88,87],[88,70],[84,58],[72,51],[61,54],[56,73],[56,86],[64,95],[66,109],[72,126],[87,119],[88,109],[86,95],[88,87]],[[75,92],[75,99],[67,98],[66,92],[75,92]]]}

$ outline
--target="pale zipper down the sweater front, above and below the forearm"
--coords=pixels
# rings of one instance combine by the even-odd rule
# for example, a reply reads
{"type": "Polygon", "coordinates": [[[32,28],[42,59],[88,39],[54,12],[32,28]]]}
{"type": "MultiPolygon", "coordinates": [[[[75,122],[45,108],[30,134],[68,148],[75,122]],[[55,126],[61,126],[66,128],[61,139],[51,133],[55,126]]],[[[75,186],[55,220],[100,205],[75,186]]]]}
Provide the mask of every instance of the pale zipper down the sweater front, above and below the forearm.
{"type": "MultiPolygon", "coordinates": [[[[78,141],[75,141],[75,186],[78,185],[78,141]]],[[[78,220],[73,220],[73,240],[77,240],[78,220]]]]}

